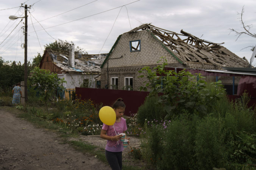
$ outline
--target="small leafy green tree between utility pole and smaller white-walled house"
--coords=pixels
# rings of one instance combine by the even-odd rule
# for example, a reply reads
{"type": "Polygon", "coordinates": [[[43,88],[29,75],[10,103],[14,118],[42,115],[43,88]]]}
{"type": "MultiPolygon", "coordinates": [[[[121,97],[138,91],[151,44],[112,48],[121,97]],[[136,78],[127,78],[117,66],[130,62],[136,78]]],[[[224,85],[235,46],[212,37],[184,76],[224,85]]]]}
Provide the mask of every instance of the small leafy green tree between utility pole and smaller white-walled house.
{"type": "Polygon", "coordinates": [[[40,100],[45,103],[48,113],[47,103],[56,95],[58,88],[64,89],[62,83],[66,83],[66,81],[64,81],[64,78],[58,78],[56,73],[51,73],[50,70],[39,69],[39,67],[31,71],[29,80],[31,85],[39,92],[40,100]]]}

